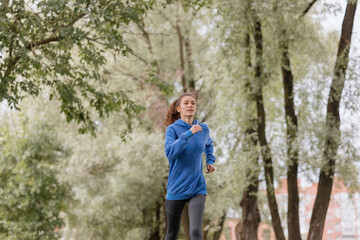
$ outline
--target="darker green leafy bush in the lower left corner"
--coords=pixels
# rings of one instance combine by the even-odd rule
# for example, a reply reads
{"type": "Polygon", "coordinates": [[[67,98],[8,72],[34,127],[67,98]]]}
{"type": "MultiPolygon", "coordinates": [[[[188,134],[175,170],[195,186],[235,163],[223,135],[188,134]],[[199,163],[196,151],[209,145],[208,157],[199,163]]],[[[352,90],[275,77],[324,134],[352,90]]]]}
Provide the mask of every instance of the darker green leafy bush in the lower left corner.
{"type": "Polygon", "coordinates": [[[58,239],[68,188],[57,179],[65,152],[56,135],[46,124],[25,124],[0,137],[0,238],[58,239]]]}

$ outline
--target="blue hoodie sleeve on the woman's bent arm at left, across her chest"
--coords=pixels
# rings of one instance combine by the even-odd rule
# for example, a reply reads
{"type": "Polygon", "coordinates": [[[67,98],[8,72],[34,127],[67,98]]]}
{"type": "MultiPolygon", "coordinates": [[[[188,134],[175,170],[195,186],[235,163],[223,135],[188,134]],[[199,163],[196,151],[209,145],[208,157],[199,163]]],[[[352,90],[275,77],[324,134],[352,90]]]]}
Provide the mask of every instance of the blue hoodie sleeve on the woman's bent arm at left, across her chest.
{"type": "Polygon", "coordinates": [[[171,161],[176,159],[177,156],[186,148],[189,143],[189,139],[193,136],[191,130],[188,130],[180,135],[176,139],[174,129],[168,127],[165,133],[165,154],[166,157],[171,161]]]}

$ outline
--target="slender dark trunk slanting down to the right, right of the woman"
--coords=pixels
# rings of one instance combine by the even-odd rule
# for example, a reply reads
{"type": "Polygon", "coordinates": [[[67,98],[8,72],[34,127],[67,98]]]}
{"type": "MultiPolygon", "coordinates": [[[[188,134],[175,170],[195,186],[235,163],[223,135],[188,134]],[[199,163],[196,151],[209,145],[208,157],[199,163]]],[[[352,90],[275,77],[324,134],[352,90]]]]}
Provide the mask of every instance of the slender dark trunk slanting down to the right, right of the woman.
{"type": "MultiPolygon", "coordinates": [[[[255,16],[256,17],[256,16],[255,16]]],[[[261,155],[264,161],[265,169],[265,181],[266,181],[266,195],[269,202],[269,208],[271,213],[272,226],[275,232],[277,240],[285,240],[284,231],[281,226],[281,219],[279,215],[279,210],[275,198],[274,190],[274,173],[272,167],[272,158],[270,147],[266,141],[265,135],[265,109],[264,109],[264,100],[262,94],[262,73],[263,73],[263,59],[262,59],[262,32],[261,32],[261,23],[260,20],[255,19],[254,22],[254,39],[255,39],[255,100],[257,106],[257,132],[258,132],[258,141],[261,146],[261,155]]]]}

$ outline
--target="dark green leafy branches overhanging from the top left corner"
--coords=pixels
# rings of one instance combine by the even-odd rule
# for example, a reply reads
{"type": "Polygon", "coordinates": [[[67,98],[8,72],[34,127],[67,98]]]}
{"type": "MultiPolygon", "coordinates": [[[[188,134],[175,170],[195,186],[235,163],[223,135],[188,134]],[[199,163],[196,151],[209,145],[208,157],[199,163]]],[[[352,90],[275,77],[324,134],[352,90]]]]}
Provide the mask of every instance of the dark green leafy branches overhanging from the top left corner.
{"type": "Polygon", "coordinates": [[[18,109],[25,96],[45,87],[61,101],[68,122],[94,134],[88,106],[101,117],[139,113],[125,91],[99,87],[105,53],[128,55],[123,29],[138,22],[153,0],[2,1],[0,5],[0,101],[18,109]]]}

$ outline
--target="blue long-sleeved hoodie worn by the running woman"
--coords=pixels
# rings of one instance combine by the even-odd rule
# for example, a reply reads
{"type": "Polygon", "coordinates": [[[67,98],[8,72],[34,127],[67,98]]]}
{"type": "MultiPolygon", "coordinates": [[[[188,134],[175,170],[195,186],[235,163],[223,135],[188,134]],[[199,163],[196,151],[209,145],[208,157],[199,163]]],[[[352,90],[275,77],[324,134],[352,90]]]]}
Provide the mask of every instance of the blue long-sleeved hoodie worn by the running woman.
{"type": "MultiPolygon", "coordinates": [[[[198,123],[194,120],[193,125],[198,123]]],[[[206,124],[199,124],[202,132],[195,134],[190,131],[193,125],[181,119],[166,129],[165,154],[170,164],[166,199],[181,200],[207,194],[202,153],[205,152],[206,164],[214,164],[215,156],[209,128],[206,124]]]]}

